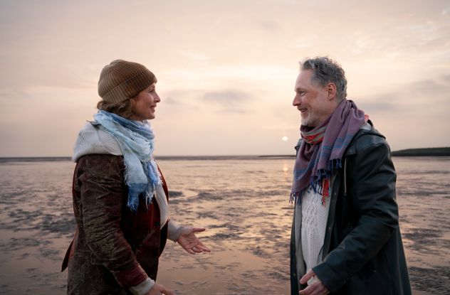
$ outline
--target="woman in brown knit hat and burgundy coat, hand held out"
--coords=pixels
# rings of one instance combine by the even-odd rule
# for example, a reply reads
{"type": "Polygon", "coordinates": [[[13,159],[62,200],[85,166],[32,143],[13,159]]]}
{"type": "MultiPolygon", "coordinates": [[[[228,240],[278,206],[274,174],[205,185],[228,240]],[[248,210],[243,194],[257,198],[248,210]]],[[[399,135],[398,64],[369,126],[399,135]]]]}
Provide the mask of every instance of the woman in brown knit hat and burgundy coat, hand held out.
{"type": "Polygon", "coordinates": [[[80,131],[73,160],[75,237],[68,294],[174,294],[155,282],[167,238],[190,254],[209,252],[195,236],[204,228],[169,220],[167,185],[153,159],[161,100],[157,79],[138,63],[114,60],[98,81],[98,113],[80,131]]]}

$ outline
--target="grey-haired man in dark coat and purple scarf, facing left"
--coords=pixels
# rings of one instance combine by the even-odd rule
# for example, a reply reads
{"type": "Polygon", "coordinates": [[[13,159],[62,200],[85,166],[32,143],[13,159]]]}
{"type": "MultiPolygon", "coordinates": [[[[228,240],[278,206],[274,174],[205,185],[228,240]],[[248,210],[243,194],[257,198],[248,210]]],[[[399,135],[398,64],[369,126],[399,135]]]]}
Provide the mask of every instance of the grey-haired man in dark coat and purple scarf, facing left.
{"type": "Polygon", "coordinates": [[[346,88],[333,60],[301,64],[291,294],[411,294],[389,145],[346,88]]]}

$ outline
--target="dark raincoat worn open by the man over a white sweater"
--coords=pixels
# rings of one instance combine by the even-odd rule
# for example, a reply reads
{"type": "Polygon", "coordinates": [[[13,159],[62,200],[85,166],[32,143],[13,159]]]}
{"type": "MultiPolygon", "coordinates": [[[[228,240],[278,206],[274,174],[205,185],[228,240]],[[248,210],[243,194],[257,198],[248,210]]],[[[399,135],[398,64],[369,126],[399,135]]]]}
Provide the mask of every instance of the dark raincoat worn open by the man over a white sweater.
{"type": "MultiPolygon", "coordinates": [[[[411,294],[389,145],[372,124],[350,142],[330,194],[323,262],[313,272],[332,294],[411,294]]],[[[298,294],[294,232],[291,294],[298,294]]],[[[306,286],[300,286],[304,289],[306,286]]]]}

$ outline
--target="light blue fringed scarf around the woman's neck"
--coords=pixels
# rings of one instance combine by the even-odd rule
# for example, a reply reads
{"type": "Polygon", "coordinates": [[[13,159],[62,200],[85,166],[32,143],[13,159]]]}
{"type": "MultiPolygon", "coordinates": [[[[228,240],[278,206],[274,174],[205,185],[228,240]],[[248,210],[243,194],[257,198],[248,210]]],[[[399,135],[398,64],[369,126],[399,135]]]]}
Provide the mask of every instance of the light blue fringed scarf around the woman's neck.
{"type": "Polygon", "coordinates": [[[161,178],[153,151],[155,135],[147,121],[135,122],[112,114],[98,111],[92,122],[100,129],[108,132],[119,143],[125,161],[125,183],[128,187],[127,206],[136,211],[139,205],[139,195],[142,193],[146,205],[161,184],[161,178]]]}

